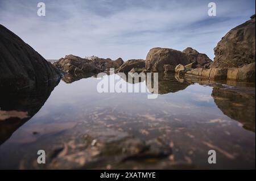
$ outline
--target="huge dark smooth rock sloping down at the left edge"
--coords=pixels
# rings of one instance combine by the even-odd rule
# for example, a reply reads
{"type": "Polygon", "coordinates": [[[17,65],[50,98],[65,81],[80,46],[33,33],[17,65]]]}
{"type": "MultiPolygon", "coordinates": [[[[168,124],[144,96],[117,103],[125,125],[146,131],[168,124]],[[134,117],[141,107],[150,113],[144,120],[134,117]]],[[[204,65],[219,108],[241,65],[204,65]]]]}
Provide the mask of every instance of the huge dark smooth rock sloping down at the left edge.
{"type": "Polygon", "coordinates": [[[0,24],[0,90],[47,86],[60,72],[30,45],[0,24]]]}

